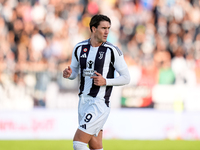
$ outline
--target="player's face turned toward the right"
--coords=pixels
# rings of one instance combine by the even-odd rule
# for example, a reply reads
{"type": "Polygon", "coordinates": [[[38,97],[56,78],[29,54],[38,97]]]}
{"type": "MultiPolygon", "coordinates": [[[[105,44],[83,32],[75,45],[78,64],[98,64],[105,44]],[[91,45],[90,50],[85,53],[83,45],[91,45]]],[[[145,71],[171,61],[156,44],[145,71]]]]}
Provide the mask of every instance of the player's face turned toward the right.
{"type": "Polygon", "coordinates": [[[106,42],[110,29],[108,21],[101,21],[99,26],[94,30],[94,37],[98,43],[106,42]]]}

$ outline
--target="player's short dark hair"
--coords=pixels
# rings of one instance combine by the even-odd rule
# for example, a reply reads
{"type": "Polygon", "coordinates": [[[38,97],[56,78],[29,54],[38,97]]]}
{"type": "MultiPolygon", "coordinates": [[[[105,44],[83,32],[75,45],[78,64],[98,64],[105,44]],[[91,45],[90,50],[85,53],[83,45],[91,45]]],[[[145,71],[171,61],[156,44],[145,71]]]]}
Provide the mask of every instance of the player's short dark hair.
{"type": "Polygon", "coordinates": [[[94,15],[92,17],[92,19],[90,20],[90,30],[91,30],[91,32],[92,32],[92,27],[94,26],[95,28],[97,28],[101,21],[108,21],[111,24],[111,20],[107,16],[101,15],[101,14],[94,15]]]}

